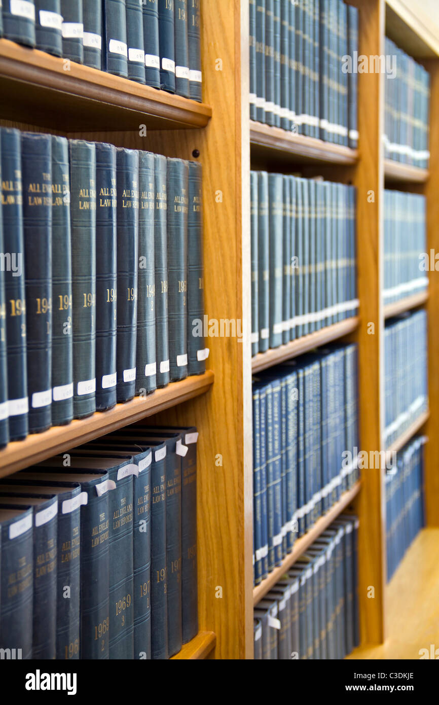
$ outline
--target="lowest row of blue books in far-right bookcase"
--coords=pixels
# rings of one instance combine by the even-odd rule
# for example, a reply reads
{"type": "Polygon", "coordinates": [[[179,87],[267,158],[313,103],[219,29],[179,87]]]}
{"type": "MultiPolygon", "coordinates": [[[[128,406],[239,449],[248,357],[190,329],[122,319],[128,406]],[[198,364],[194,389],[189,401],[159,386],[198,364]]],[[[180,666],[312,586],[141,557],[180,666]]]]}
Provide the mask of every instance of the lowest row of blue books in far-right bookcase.
{"type": "Polygon", "coordinates": [[[385,541],[387,579],[424,525],[423,444],[417,436],[397,454],[397,465],[385,475],[385,541]]]}

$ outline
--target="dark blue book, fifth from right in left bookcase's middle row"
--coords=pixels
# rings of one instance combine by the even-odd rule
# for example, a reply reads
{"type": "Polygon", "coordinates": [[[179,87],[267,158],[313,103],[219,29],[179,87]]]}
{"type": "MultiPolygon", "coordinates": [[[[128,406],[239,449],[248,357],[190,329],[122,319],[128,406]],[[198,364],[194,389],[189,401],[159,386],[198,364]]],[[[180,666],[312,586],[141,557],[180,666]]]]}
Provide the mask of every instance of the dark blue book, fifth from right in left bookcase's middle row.
{"type": "Polygon", "coordinates": [[[117,200],[117,400],[136,386],[137,271],[139,252],[139,152],[116,149],[117,200]]]}

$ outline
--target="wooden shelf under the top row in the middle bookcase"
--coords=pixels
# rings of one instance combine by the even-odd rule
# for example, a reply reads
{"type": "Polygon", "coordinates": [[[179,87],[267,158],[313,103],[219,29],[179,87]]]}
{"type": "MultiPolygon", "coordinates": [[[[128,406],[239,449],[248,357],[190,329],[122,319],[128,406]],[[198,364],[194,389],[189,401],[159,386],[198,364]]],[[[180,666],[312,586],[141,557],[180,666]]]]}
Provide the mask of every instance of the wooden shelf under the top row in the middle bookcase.
{"type": "Polygon", "coordinates": [[[297,164],[356,164],[357,149],[333,145],[331,142],[316,140],[288,133],[280,128],[271,128],[263,123],[250,121],[250,147],[252,157],[273,158],[297,164]]]}

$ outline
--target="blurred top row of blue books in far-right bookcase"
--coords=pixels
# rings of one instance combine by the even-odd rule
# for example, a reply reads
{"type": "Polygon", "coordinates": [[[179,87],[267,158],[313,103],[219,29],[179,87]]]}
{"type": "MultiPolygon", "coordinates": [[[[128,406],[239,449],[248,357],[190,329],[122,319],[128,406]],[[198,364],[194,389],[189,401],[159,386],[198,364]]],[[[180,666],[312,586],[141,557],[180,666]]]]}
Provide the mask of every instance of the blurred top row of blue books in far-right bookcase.
{"type": "Polygon", "coordinates": [[[384,156],[427,168],[430,75],[388,37],[385,56],[394,73],[385,80],[384,156]]]}

